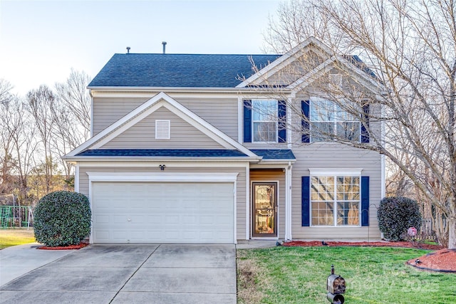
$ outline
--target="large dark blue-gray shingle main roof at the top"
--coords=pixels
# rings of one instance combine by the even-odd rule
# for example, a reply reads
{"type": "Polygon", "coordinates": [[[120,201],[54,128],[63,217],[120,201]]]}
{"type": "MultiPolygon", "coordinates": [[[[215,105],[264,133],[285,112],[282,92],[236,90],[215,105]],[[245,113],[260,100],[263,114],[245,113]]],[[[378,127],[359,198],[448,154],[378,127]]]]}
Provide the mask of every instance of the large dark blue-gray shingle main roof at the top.
{"type": "Polygon", "coordinates": [[[89,87],[234,88],[280,55],[115,54],[89,87]]]}

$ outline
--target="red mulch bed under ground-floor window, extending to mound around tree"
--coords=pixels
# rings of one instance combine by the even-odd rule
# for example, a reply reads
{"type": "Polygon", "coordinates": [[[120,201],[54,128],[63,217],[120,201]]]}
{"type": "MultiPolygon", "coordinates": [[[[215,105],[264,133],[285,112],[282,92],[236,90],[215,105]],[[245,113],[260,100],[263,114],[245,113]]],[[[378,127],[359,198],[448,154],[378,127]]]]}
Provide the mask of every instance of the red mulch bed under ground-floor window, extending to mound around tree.
{"type": "Polygon", "coordinates": [[[456,250],[445,249],[442,246],[430,245],[425,243],[412,242],[389,242],[389,241],[372,241],[372,242],[342,242],[342,241],[288,241],[283,246],[388,246],[388,247],[407,247],[435,250],[427,253],[420,258],[415,258],[407,262],[408,265],[428,271],[443,271],[456,273],[456,250]]]}

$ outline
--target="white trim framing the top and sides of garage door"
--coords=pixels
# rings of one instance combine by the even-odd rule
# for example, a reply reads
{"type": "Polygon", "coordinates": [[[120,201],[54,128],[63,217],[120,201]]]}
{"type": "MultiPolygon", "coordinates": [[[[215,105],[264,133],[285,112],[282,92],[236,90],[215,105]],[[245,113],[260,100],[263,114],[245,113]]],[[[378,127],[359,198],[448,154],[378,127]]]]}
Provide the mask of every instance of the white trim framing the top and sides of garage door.
{"type": "MultiPolygon", "coordinates": [[[[229,182],[233,183],[233,240],[236,237],[237,214],[237,173],[150,173],[150,172],[87,172],[89,177],[90,209],[93,210],[93,182],[229,182]]],[[[93,215],[92,215],[93,216],[93,215]]],[[[93,219],[92,219],[93,221],[93,219]]],[[[90,231],[90,243],[93,243],[93,229],[90,231]]]]}

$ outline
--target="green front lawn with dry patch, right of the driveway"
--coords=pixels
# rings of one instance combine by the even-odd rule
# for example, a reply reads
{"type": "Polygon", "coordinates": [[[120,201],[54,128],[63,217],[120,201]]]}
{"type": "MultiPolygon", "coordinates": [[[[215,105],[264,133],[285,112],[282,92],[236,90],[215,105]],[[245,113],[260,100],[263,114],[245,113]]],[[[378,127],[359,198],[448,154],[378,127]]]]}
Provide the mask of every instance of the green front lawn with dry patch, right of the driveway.
{"type": "Polygon", "coordinates": [[[346,303],[456,303],[456,274],[405,265],[429,251],[390,247],[274,247],[238,251],[239,303],[329,303],[331,264],[346,303]]]}

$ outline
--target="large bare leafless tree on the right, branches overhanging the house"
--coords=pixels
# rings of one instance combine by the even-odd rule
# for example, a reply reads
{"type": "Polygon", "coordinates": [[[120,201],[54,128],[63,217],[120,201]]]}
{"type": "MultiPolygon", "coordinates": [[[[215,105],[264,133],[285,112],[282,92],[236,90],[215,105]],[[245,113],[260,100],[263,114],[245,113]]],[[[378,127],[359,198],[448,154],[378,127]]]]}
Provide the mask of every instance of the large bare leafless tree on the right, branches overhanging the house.
{"type": "Polygon", "coordinates": [[[296,46],[308,34],[326,43],[331,55],[318,63],[332,56],[333,69],[302,65],[301,72],[313,69],[309,77],[318,82],[321,97],[360,120],[371,141],[318,130],[311,121],[307,131],[385,154],[435,206],[436,216],[446,219],[447,246],[456,248],[455,1],[291,1],[282,4],[278,21],[271,20],[269,33],[274,35],[266,42],[274,49],[296,46]],[[308,18],[304,7],[318,18],[308,18]],[[353,53],[358,56],[341,55],[353,53]],[[349,65],[371,80],[344,81],[353,73],[349,65]],[[385,90],[363,90],[366,81],[385,90]],[[377,136],[372,121],[385,123],[385,138],[377,136]]]}

